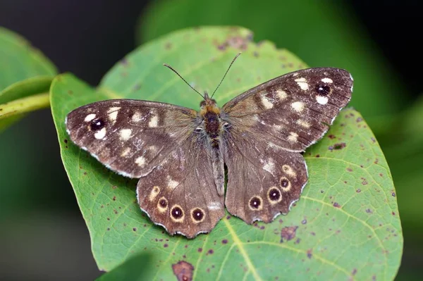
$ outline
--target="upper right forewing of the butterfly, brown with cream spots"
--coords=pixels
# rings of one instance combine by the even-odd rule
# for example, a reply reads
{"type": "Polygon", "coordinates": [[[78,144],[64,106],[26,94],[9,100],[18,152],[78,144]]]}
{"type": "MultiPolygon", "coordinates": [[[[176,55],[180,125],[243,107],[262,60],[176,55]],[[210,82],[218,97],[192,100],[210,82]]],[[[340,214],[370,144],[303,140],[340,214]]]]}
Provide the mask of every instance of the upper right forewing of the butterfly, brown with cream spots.
{"type": "Polygon", "coordinates": [[[309,68],[265,82],[223,106],[233,126],[290,151],[320,139],[351,98],[353,78],[338,68],[309,68]]]}

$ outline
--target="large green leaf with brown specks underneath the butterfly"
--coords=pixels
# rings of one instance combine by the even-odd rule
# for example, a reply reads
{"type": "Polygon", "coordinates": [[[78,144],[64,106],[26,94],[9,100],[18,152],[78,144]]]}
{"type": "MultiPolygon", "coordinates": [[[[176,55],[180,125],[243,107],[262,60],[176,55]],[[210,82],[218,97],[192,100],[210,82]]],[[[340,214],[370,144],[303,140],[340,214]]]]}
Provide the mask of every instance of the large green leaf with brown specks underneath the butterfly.
{"type": "Polygon", "coordinates": [[[178,261],[189,263],[197,280],[393,279],[403,249],[395,188],[384,155],[357,111],[341,111],[327,137],[306,151],[309,183],[287,216],[247,225],[228,215],[211,233],[191,240],[169,236],[140,211],[136,180],[110,172],[68,141],[66,114],[92,101],[137,98],[198,108],[200,97],[162,63],[198,90],[212,90],[242,50],[216,93],[221,105],[260,82],[305,67],[269,42],[251,42],[250,34],[240,27],[182,30],[129,54],[97,90],[73,75],[59,75],[52,83],[61,156],[97,265],[112,270],[148,251],[154,254],[154,272],[145,280],[175,278],[172,265],[178,261]]]}

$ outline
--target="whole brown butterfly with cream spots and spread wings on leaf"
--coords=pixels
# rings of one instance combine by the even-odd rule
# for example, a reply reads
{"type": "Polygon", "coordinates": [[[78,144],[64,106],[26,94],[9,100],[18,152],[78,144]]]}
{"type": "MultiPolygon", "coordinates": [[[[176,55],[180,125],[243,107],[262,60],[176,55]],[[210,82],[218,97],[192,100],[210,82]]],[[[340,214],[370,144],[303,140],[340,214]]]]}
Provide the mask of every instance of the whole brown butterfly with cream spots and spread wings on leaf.
{"type": "Polygon", "coordinates": [[[199,111],[98,101],[69,113],[66,127],[71,140],[104,166],[139,178],[138,204],[155,224],[193,238],[210,232],[225,206],[248,224],[288,213],[307,183],[301,152],[324,136],[352,91],[348,71],[308,68],[222,107],[206,92],[199,111]]]}

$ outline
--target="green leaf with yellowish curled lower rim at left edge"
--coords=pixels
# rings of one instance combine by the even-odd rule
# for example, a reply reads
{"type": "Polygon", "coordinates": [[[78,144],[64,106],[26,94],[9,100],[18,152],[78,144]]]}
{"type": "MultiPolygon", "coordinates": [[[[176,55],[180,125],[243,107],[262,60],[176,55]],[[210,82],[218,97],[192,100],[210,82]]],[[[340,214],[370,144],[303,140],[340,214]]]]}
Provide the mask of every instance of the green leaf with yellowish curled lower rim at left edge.
{"type": "Polygon", "coordinates": [[[57,70],[23,37],[3,27],[0,27],[0,61],[1,131],[25,113],[49,106],[49,87],[57,70]]]}

